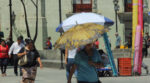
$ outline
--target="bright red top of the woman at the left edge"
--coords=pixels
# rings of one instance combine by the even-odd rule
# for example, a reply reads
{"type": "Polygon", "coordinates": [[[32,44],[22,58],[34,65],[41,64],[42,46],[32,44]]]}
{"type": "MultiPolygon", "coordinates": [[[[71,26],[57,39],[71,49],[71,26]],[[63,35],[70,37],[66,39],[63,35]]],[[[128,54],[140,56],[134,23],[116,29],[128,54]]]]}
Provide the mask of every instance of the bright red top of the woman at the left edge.
{"type": "Polygon", "coordinates": [[[8,58],[8,51],[8,45],[6,45],[6,47],[0,45],[0,58],[8,58]]]}

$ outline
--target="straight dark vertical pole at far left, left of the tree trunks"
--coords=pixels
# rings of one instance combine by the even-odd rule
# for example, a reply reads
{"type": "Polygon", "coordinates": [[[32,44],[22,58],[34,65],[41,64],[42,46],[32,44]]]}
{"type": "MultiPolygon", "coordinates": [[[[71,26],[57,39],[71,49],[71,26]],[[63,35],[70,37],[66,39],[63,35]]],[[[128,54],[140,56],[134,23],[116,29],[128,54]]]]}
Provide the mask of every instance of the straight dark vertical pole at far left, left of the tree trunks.
{"type": "Polygon", "coordinates": [[[9,0],[9,11],[10,11],[10,32],[9,32],[9,39],[10,41],[13,41],[12,38],[12,1],[9,0]]]}

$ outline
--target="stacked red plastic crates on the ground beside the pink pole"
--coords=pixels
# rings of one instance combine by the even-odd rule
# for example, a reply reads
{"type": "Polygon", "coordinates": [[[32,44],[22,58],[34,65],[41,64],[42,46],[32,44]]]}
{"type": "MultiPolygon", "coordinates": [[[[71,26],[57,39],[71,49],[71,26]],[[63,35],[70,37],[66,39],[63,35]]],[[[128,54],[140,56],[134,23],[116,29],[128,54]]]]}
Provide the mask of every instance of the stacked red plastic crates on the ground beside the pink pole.
{"type": "Polygon", "coordinates": [[[131,76],[131,58],[118,58],[118,72],[120,76],[131,76]]]}

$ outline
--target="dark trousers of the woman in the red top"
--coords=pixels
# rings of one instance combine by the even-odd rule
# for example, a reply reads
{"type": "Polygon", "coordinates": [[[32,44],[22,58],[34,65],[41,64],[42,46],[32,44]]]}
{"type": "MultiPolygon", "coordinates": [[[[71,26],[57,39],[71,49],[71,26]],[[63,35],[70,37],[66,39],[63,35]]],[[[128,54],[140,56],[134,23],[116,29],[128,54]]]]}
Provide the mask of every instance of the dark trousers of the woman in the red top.
{"type": "Polygon", "coordinates": [[[7,58],[0,59],[0,67],[1,67],[1,73],[2,74],[6,73],[7,65],[8,65],[8,59],[7,58]]]}

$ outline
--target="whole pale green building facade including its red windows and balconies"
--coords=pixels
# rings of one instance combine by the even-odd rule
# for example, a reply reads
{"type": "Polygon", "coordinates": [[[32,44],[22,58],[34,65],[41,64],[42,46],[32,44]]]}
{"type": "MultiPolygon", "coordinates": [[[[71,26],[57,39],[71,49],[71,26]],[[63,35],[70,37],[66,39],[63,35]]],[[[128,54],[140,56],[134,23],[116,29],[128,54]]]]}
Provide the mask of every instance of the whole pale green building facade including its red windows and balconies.
{"type": "MultiPolygon", "coordinates": [[[[9,17],[9,0],[0,0],[0,30],[4,32],[5,37],[9,36],[10,17],[9,17]]],[[[35,7],[31,0],[24,0],[28,23],[30,28],[31,37],[35,35],[35,21],[36,12],[35,7]]],[[[33,0],[36,1],[36,0],[33,0]]],[[[55,32],[56,27],[59,25],[59,0],[38,0],[39,7],[39,30],[36,46],[42,50],[48,36],[52,37],[52,43],[54,44],[60,33],[55,32]]],[[[144,28],[149,32],[149,7],[150,0],[144,0],[144,28]]],[[[118,33],[121,36],[122,45],[127,42],[127,36],[132,31],[132,0],[119,0],[118,5],[118,33]]],[[[23,6],[20,0],[12,0],[12,10],[15,15],[15,21],[13,25],[13,40],[16,37],[23,35],[27,37],[25,16],[23,6]]],[[[62,20],[79,12],[95,12],[105,17],[110,18],[115,22],[115,11],[113,0],[61,0],[62,20]]],[[[115,47],[115,24],[110,27],[108,32],[109,38],[112,43],[112,49],[115,47]]],[[[99,39],[100,48],[104,48],[103,38],[99,39]]]]}

